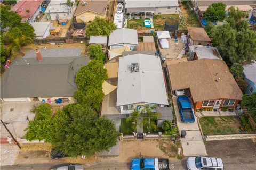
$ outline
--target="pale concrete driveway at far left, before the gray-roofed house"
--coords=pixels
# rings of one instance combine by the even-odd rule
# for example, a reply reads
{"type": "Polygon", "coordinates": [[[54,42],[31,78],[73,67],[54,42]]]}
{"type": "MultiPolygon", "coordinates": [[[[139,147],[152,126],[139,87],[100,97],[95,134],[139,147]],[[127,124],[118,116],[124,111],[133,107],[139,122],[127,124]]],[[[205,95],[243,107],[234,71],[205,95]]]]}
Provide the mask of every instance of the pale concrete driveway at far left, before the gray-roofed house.
{"type": "MultiPolygon", "coordinates": [[[[30,112],[30,109],[36,102],[6,102],[1,104],[1,119],[7,123],[7,128],[11,131],[15,138],[22,138],[25,135],[24,129],[28,126],[28,120],[33,120],[34,113],[30,112]]],[[[1,137],[10,137],[10,134],[4,128],[0,126],[1,137]]]]}

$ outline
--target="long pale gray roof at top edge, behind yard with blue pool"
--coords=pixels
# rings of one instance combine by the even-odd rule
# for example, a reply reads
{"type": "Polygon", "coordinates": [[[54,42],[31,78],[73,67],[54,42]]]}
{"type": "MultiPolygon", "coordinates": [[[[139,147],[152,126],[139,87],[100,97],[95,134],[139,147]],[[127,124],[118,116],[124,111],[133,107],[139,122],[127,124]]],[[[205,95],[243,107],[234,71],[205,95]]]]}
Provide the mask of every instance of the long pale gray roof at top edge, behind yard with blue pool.
{"type": "Polygon", "coordinates": [[[179,6],[178,0],[125,0],[125,8],[179,6]]]}

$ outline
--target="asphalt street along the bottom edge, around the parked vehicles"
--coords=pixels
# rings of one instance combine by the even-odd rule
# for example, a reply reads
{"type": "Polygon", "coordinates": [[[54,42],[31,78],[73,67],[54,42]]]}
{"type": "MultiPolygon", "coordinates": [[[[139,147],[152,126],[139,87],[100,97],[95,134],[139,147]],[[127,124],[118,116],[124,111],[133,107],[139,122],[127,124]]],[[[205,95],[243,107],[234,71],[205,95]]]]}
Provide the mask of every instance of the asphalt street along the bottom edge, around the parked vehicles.
{"type": "MultiPolygon", "coordinates": [[[[223,159],[223,163],[225,166],[225,170],[247,170],[247,169],[255,169],[256,159],[223,159]]],[[[2,166],[1,170],[49,170],[51,168],[56,167],[58,164],[37,164],[37,165],[17,165],[17,166],[2,166]]],[[[62,164],[65,165],[65,164],[62,164]]],[[[86,170],[97,169],[97,170],[128,170],[130,169],[130,163],[116,163],[116,162],[99,162],[99,163],[91,163],[84,164],[86,170]]],[[[174,170],[185,170],[186,169],[186,159],[175,160],[174,162],[170,162],[170,169],[174,170]]]]}

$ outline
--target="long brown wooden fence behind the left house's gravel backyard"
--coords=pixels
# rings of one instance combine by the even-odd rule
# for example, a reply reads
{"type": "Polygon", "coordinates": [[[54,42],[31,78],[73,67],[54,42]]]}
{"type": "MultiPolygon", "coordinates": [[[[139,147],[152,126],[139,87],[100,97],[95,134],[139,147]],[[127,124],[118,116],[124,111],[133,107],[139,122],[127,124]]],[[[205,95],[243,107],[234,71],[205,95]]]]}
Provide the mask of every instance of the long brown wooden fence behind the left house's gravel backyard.
{"type": "Polygon", "coordinates": [[[87,40],[86,37],[58,37],[58,38],[43,38],[33,39],[35,44],[46,44],[46,43],[76,43],[87,40]]]}

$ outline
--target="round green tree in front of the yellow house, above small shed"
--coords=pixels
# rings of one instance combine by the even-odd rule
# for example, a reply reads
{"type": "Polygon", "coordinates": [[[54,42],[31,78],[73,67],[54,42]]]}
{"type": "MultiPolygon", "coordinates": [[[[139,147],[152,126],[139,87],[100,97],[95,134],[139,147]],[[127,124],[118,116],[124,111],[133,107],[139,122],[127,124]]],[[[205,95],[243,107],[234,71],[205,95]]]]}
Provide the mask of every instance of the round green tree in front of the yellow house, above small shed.
{"type": "Polygon", "coordinates": [[[113,22],[97,17],[91,23],[87,24],[86,37],[109,36],[116,29],[116,25],[113,22]]]}

